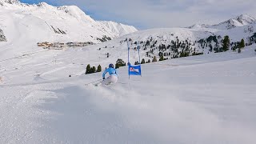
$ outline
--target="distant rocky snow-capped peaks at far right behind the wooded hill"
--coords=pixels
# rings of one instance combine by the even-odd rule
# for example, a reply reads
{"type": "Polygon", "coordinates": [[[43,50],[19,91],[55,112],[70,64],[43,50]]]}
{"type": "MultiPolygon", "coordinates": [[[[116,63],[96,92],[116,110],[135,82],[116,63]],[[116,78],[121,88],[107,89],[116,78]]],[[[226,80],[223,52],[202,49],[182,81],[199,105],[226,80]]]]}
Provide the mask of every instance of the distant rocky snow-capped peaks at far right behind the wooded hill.
{"type": "Polygon", "coordinates": [[[251,17],[247,14],[241,14],[236,18],[230,18],[225,22],[221,22],[217,25],[206,25],[206,24],[195,24],[190,26],[190,29],[198,29],[198,28],[210,28],[210,29],[218,29],[218,30],[230,30],[238,26],[247,26],[250,24],[256,23],[256,18],[251,17]]]}

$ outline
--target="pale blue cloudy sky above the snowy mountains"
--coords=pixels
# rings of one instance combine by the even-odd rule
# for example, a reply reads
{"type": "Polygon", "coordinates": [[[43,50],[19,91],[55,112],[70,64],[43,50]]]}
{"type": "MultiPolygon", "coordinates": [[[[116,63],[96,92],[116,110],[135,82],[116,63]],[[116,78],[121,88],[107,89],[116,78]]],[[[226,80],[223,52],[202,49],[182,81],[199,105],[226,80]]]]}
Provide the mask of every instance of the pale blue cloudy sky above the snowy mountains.
{"type": "Polygon", "coordinates": [[[21,0],[47,2],[54,6],[76,5],[96,20],[111,20],[136,26],[191,26],[216,24],[240,14],[256,18],[255,0],[21,0]]]}

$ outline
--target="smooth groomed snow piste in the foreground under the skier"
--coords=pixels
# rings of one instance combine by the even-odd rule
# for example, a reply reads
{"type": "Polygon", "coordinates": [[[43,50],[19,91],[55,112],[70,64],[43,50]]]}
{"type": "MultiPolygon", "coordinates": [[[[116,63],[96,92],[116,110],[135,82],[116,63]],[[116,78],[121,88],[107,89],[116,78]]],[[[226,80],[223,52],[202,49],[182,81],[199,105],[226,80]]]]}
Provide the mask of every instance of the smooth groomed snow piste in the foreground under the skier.
{"type": "Polygon", "coordinates": [[[130,80],[122,67],[109,87],[84,86],[100,73],[60,78],[78,62],[1,71],[0,142],[255,143],[254,47],[142,65],[130,80]]]}

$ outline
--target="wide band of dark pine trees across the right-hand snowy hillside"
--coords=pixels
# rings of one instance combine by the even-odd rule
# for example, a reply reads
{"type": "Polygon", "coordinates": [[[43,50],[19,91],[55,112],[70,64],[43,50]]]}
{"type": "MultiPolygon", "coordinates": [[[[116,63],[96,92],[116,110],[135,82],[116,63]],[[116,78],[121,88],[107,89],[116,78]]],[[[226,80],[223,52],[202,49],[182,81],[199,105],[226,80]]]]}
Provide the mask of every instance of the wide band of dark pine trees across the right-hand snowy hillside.
{"type": "MultiPolygon", "coordinates": [[[[139,41],[140,46],[145,51],[145,56],[150,58],[147,62],[142,59],[141,64],[149,62],[157,62],[166,60],[168,58],[182,58],[200,54],[220,53],[227,50],[233,50],[241,52],[241,49],[245,46],[250,46],[256,43],[256,33],[252,36],[242,39],[240,42],[231,42],[230,36],[226,35],[222,38],[220,35],[210,35],[208,38],[202,38],[198,41],[191,41],[189,38],[180,40],[178,36],[170,34],[172,40],[161,36],[150,37],[144,41],[139,41]]],[[[135,45],[134,49],[137,50],[137,42],[133,42],[133,39],[126,38],[122,42],[130,42],[131,45],[135,45]]],[[[122,42],[120,42],[122,44],[122,42]]],[[[135,62],[138,65],[140,62],[135,62]]]]}

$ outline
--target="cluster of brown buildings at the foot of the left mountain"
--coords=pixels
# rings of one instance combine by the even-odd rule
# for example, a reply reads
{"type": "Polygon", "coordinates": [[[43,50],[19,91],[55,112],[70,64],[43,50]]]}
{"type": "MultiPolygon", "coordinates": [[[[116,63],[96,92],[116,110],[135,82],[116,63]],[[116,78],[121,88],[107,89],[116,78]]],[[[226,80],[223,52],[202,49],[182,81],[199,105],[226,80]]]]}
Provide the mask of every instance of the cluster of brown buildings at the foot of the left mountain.
{"type": "Polygon", "coordinates": [[[93,42],[38,42],[38,46],[43,47],[44,49],[50,49],[50,50],[63,50],[65,48],[69,47],[82,47],[82,46],[88,46],[93,45],[93,42]]]}

